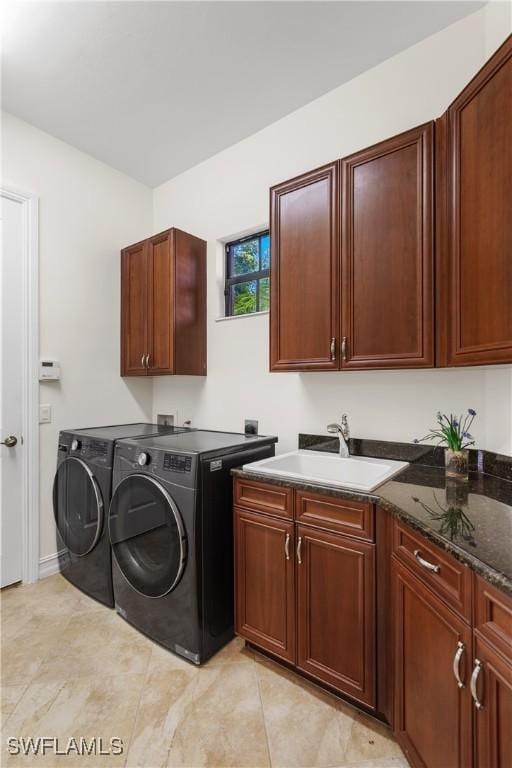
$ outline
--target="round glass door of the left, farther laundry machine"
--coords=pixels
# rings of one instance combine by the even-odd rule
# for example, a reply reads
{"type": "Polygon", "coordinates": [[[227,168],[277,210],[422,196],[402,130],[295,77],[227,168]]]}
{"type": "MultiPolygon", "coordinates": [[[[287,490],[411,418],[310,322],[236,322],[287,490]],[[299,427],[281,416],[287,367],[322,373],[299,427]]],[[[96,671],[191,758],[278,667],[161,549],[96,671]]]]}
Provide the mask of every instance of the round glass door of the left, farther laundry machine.
{"type": "Polygon", "coordinates": [[[53,512],[61,538],[74,555],[86,555],[103,526],[103,499],[96,478],[81,459],[59,465],[53,481],[53,512]]]}

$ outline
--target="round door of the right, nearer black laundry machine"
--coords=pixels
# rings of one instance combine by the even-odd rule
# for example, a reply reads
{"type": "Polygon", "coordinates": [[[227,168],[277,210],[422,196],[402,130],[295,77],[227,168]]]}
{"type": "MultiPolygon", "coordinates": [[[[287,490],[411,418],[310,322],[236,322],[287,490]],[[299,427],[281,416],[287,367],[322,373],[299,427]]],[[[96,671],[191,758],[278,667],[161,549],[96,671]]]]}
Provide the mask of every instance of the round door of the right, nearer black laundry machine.
{"type": "Polygon", "coordinates": [[[109,511],[112,552],[127,582],[145,597],[163,597],[178,584],[186,536],[178,507],[152,477],[125,477],[109,511]]]}

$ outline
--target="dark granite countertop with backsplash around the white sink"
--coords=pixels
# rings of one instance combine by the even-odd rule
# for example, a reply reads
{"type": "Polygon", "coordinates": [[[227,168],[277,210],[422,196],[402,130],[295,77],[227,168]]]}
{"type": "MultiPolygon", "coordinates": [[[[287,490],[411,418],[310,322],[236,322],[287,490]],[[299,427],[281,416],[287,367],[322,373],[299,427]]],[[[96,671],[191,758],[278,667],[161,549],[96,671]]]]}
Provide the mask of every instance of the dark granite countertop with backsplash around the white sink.
{"type": "MultiPolygon", "coordinates": [[[[337,445],[337,438],[299,436],[300,448],[332,452],[337,445]]],[[[469,481],[461,482],[446,477],[440,449],[363,440],[351,440],[350,449],[410,465],[369,494],[241,469],[233,474],[379,504],[512,596],[512,457],[471,451],[469,481]]]]}

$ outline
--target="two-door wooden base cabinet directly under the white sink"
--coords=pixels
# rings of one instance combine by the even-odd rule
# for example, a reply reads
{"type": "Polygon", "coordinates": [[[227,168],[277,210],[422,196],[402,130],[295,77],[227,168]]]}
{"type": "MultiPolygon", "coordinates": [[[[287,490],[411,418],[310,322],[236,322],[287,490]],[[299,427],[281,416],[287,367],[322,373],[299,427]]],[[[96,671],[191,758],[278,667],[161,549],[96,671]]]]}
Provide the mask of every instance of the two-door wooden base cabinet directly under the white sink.
{"type": "MultiPolygon", "coordinates": [[[[279,517],[268,499],[282,487],[250,481],[249,493],[247,486],[235,481],[237,634],[375,709],[375,544],[328,530],[354,512],[344,500],[324,496],[327,512],[308,508],[314,525],[302,525],[293,518],[296,507],[304,513],[304,494],[288,489],[279,517]]],[[[321,504],[320,494],[314,501],[321,504]]],[[[374,509],[366,506],[367,539],[374,509]]]]}

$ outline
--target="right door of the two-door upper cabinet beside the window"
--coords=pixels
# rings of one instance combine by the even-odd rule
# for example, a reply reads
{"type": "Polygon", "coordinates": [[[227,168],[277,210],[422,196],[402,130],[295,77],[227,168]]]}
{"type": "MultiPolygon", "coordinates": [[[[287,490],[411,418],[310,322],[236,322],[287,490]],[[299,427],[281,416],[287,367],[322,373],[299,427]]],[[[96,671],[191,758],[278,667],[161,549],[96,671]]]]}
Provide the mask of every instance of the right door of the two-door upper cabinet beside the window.
{"type": "Polygon", "coordinates": [[[427,123],[341,161],[342,368],[434,365],[427,123]]]}

